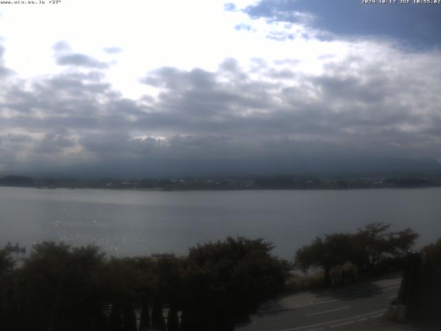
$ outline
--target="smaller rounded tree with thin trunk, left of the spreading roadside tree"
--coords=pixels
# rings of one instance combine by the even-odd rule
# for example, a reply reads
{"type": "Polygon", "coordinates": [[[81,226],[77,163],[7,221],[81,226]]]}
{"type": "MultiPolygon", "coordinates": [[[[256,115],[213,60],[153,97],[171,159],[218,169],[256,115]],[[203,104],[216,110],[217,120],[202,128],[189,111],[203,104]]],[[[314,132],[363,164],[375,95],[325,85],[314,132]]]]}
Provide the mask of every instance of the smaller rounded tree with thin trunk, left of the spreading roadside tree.
{"type": "Polygon", "coordinates": [[[325,284],[331,283],[331,268],[344,265],[351,260],[352,235],[347,233],[325,234],[325,239],[316,237],[310,245],[296,252],[294,265],[307,272],[311,267],[322,268],[325,284]]]}

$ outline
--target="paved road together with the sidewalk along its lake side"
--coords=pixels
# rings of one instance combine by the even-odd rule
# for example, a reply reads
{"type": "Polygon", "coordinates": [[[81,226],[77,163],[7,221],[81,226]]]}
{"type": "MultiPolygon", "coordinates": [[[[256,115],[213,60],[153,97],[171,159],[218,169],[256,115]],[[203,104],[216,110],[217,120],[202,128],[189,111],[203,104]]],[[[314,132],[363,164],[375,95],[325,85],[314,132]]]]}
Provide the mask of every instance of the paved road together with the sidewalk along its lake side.
{"type": "Polygon", "coordinates": [[[416,330],[384,319],[401,279],[302,292],[263,305],[237,331],[416,330]]]}

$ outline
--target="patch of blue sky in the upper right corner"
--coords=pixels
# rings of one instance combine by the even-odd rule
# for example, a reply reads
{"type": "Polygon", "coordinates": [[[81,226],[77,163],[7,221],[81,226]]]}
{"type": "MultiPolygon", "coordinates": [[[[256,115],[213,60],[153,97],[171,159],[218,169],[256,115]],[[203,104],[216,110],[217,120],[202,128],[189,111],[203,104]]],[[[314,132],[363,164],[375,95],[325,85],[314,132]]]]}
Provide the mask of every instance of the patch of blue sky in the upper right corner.
{"type": "MultiPolygon", "coordinates": [[[[440,45],[441,6],[420,3],[384,5],[347,0],[261,0],[244,10],[252,18],[300,23],[346,36],[400,39],[408,46],[440,45]]],[[[322,34],[329,37],[329,34],[322,34]]],[[[277,36],[273,36],[276,38],[277,36]]]]}

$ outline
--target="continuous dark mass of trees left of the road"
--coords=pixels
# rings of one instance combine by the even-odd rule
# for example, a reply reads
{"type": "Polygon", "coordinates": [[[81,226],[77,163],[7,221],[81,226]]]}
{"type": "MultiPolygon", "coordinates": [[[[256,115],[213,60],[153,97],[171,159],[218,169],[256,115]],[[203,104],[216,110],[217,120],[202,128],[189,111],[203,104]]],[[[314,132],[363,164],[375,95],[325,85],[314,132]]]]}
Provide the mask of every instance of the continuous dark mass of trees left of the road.
{"type": "Polygon", "coordinates": [[[168,308],[167,330],[229,331],[283,289],[288,263],[272,256],[272,248],[239,237],[197,245],[182,258],[106,259],[93,245],[43,242],[17,270],[0,251],[1,326],[134,331],[137,310],[140,330],[166,330],[168,308]]]}

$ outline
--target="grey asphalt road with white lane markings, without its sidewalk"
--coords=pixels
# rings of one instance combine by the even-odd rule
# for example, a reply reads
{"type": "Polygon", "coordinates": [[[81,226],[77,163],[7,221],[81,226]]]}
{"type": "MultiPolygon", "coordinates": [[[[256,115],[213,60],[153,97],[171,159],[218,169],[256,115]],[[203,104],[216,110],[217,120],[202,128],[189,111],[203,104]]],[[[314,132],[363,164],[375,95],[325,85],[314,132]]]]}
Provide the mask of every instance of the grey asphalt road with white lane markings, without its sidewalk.
{"type": "Polygon", "coordinates": [[[395,285],[364,294],[269,310],[252,317],[252,323],[236,326],[235,330],[320,331],[355,326],[355,323],[382,317],[398,290],[399,286],[395,285]]]}

